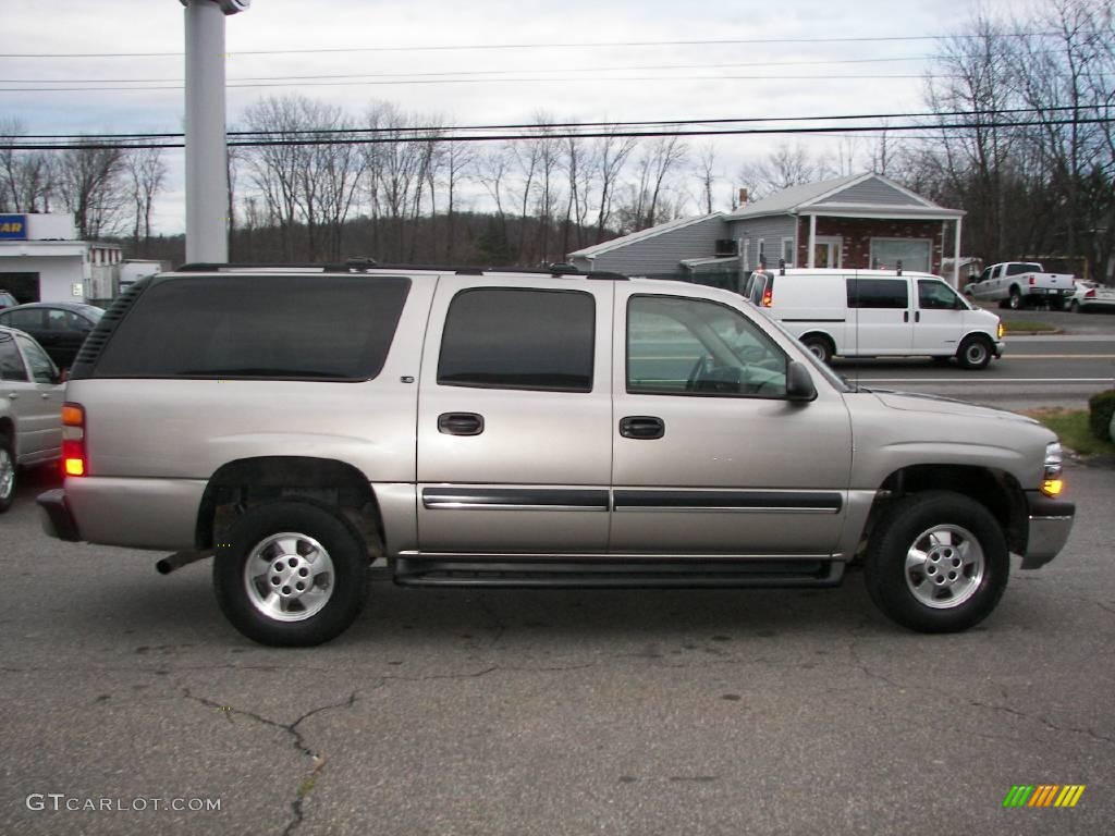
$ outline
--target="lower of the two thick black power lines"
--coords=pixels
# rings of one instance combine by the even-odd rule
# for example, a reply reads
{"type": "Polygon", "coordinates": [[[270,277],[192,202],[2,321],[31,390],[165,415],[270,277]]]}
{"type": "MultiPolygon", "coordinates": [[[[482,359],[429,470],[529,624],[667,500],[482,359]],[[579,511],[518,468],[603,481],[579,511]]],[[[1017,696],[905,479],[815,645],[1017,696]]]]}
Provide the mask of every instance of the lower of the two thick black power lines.
{"type": "MultiPolygon", "coordinates": [[[[230,147],[269,147],[269,146],[303,146],[303,145],[381,145],[398,142],[430,142],[430,143],[456,143],[456,142],[508,142],[529,139],[594,139],[594,138],[657,138],[667,136],[763,136],[763,135],[795,135],[795,134],[878,134],[889,132],[927,132],[927,130],[963,130],[969,128],[1022,128],[1022,127],[1048,127],[1064,125],[1093,125],[1093,124],[1115,124],[1115,117],[1094,117],[1078,119],[1049,119],[1046,121],[968,121],[947,123],[939,125],[920,125],[917,123],[905,125],[847,125],[832,126],[818,129],[815,127],[776,127],[776,128],[717,128],[712,130],[592,130],[592,132],[563,132],[546,134],[495,134],[482,136],[463,135],[413,135],[391,137],[346,137],[338,139],[244,139],[230,142],[230,147]]],[[[137,148],[182,148],[185,143],[145,143],[145,144],[113,144],[113,143],[57,143],[57,144],[23,144],[12,143],[4,147],[12,150],[84,150],[84,149],[118,149],[133,150],[137,148]]]]}

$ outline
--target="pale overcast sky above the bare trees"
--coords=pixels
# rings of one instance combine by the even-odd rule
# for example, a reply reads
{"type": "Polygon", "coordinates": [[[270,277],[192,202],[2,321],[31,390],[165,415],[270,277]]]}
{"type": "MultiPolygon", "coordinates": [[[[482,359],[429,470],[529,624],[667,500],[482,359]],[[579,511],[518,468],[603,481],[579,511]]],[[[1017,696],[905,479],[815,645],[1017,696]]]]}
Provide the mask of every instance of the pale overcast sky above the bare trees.
{"type": "MultiPolygon", "coordinates": [[[[18,118],[31,134],[181,130],[178,0],[4,6],[0,116],[18,118]],[[157,55],[60,57],[107,52],[157,55]],[[42,89],[140,80],[173,89],[42,89]]],[[[353,115],[384,100],[457,125],[530,121],[540,114],[591,121],[918,111],[927,56],[935,48],[918,38],[962,30],[973,8],[969,0],[254,0],[226,19],[229,123],[263,96],[295,91],[353,115]],[[893,40],[830,40],[840,38],[893,40]],[[791,39],[812,42],[775,42],[791,39]],[[663,43],[714,40],[759,42],[663,43]],[[636,41],[652,45],[619,46],[636,41]],[[323,51],[340,49],[361,51],[323,51]],[[270,54],[251,55],[259,51],[270,54]]],[[[1009,14],[1032,4],[983,0],[981,8],[1009,14]]],[[[725,198],[739,164],[777,142],[717,142],[725,198]]],[[[181,152],[167,152],[167,162],[172,182],[156,224],[176,232],[184,216],[181,152]]]]}

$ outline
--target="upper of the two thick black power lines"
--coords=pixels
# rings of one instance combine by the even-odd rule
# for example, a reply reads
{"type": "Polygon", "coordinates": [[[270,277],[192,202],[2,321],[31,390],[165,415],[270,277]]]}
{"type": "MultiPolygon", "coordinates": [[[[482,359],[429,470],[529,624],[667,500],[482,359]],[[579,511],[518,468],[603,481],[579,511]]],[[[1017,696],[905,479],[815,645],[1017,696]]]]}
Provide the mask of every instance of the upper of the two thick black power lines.
{"type": "MultiPolygon", "coordinates": [[[[313,135],[328,136],[337,134],[439,134],[442,132],[478,132],[478,130],[535,130],[544,132],[555,128],[651,128],[667,126],[702,126],[702,125],[741,125],[741,124],[767,124],[786,121],[849,121],[852,119],[919,119],[919,118],[956,118],[956,117],[982,117],[982,116],[1007,116],[1010,114],[1036,114],[1036,113],[1068,113],[1073,110],[1107,110],[1108,105],[1063,105],[1056,107],[1004,107],[987,110],[941,110],[941,111],[902,111],[902,113],[864,113],[864,114],[826,114],[821,116],[750,116],[750,117],[717,117],[717,118],[690,118],[690,119],[637,119],[630,121],[547,121],[547,123],[504,123],[496,125],[413,125],[403,127],[347,127],[347,128],[283,128],[281,130],[230,130],[230,137],[269,137],[275,134],[282,135],[313,135]]],[[[888,129],[886,126],[880,126],[888,129]]],[[[123,139],[173,139],[181,138],[184,134],[175,133],[147,133],[147,134],[20,134],[20,139],[79,139],[86,140],[123,140],[123,139]]],[[[14,138],[14,137],[12,137],[14,138]]]]}

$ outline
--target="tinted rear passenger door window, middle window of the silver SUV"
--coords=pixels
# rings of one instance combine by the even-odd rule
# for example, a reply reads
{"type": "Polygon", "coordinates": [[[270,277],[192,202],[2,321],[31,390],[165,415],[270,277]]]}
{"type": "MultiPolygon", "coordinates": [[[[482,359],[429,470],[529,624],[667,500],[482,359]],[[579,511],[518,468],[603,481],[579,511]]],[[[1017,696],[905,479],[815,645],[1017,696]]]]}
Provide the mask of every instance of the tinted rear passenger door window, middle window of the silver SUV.
{"type": "Polygon", "coordinates": [[[437,382],[592,391],[597,307],[579,291],[477,288],[454,297],[437,382]]]}

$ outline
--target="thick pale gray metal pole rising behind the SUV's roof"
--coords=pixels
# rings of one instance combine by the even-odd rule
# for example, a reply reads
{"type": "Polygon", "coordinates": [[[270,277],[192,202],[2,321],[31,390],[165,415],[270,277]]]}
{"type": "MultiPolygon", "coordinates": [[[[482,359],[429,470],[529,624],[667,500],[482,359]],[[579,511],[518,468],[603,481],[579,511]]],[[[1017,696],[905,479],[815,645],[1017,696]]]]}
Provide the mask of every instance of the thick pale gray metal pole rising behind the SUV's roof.
{"type": "Polygon", "coordinates": [[[252,0],[181,0],[186,21],[186,261],[229,260],[224,17],[252,0]]]}

